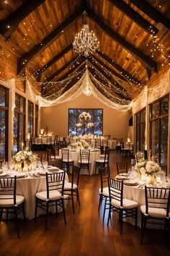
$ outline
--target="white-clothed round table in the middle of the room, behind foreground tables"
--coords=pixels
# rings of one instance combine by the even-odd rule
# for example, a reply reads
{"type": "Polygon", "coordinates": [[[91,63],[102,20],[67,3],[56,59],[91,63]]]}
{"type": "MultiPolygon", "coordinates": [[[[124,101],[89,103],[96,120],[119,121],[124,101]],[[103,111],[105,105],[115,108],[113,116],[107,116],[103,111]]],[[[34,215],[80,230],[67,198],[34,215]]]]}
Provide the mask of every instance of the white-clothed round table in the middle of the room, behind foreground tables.
{"type": "MultiPolygon", "coordinates": [[[[61,157],[61,150],[59,150],[59,156],[61,157]]],[[[80,150],[69,149],[69,158],[73,160],[73,165],[78,166],[80,160],[80,150]]],[[[90,175],[95,173],[95,161],[100,158],[100,150],[93,149],[90,150],[90,175]]],[[[89,174],[88,170],[84,168],[82,174],[89,174]]]]}

